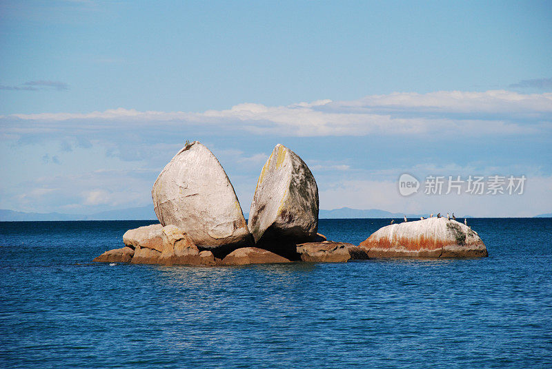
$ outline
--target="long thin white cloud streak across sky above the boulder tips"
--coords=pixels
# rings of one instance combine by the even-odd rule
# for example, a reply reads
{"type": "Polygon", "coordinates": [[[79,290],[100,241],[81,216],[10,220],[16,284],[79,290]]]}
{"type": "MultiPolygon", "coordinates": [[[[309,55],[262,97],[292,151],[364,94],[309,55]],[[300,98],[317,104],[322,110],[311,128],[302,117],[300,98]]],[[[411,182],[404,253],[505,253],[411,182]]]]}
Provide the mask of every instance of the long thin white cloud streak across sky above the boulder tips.
{"type": "Polygon", "coordinates": [[[125,129],[175,131],[208,127],[278,136],[363,136],[368,134],[535,134],[550,130],[552,94],[510,91],[394,93],[355,101],[329,100],[269,107],[244,103],[226,110],[139,112],[108,109],[90,113],[0,116],[3,136],[86,133],[125,129]]]}

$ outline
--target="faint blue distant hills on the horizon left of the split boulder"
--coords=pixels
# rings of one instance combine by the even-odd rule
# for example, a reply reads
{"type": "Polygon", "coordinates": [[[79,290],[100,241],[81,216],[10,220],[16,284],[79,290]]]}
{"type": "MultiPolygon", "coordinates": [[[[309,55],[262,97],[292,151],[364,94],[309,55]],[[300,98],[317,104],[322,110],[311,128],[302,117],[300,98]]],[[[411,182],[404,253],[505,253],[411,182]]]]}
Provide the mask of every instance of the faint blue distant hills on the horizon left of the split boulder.
{"type": "Polygon", "coordinates": [[[25,213],[0,209],[0,222],[39,221],[39,220],[152,220],[157,219],[153,207],[102,211],[91,215],[63,213],[25,213]]]}

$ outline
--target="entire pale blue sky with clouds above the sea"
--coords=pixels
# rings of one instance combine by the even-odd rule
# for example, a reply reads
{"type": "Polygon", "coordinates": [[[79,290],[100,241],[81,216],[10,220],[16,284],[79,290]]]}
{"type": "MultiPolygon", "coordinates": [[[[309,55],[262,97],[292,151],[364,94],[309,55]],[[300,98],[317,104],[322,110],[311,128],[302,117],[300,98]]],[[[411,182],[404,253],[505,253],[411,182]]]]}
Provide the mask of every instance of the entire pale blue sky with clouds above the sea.
{"type": "Polygon", "coordinates": [[[551,1],[0,1],[0,208],[150,204],[188,139],[244,212],[282,143],[322,209],[549,213],[551,19],[551,1]],[[405,198],[405,172],[527,180],[405,198]]]}

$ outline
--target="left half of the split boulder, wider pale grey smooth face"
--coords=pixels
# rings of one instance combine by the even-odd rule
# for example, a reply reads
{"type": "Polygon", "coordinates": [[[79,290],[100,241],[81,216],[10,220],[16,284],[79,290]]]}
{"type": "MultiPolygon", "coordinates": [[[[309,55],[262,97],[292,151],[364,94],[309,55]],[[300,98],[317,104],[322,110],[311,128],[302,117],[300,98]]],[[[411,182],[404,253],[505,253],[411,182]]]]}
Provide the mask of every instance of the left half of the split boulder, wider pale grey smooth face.
{"type": "Polygon", "coordinates": [[[200,249],[228,253],[253,244],[226,172],[201,143],[181,149],[161,171],[151,193],[159,222],[177,226],[200,249]]]}

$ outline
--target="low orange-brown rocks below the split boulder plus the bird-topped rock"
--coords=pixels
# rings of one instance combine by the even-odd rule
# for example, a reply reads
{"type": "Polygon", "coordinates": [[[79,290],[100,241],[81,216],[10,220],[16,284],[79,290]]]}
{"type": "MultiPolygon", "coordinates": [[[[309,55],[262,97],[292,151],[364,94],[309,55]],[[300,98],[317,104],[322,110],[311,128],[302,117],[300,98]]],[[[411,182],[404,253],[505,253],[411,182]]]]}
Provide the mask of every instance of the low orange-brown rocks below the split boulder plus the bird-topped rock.
{"type": "Polygon", "coordinates": [[[486,246],[475,231],[455,220],[429,218],[384,226],[355,246],[328,241],[317,234],[313,242],[295,245],[295,253],[278,255],[255,246],[224,255],[197,246],[177,226],[152,224],[130,229],[121,249],[106,251],[94,262],[131,264],[233,266],[290,262],[348,262],[393,257],[486,257],[486,246]]]}

